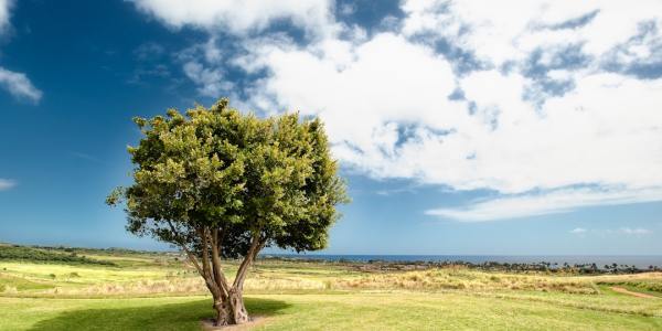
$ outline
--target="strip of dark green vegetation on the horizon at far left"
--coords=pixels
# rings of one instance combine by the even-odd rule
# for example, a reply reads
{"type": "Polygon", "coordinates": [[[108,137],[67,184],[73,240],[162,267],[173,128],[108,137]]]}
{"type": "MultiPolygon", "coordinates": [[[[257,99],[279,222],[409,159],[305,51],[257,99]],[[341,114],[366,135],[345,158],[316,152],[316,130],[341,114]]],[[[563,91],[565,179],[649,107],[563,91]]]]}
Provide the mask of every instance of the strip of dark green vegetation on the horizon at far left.
{"type": "Polygon", "coordinates": [[[29,260],[66,264],[90,264],[113,266],[111,261],[96,260],[75,253],[64,254],[25,246],[0,246],[0,260],[29,260]]]}

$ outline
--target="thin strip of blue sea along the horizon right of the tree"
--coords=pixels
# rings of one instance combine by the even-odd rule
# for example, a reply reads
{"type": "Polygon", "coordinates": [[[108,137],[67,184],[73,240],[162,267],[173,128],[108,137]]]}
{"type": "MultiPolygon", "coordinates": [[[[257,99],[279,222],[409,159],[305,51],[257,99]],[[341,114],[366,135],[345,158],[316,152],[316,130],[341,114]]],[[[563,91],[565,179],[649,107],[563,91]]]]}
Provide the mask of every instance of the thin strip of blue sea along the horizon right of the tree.
{"type": "Polygon", "coordinates": [[[319,260],[350,260],[365,263],[369,260],[383,261],[467,261],[472,264],[482,264],[485,261],[509,263],[509,264],[534,264],[552,263],[559,266],[567,263],[569,265],[596,264],[602,268],[605,265],[628,265],[640,269],[648,269],[649,266],[662,268],[662,255],[322,255],[322,254],[264,254],[263,256],[277,256],[300,259],[319,260]]]}

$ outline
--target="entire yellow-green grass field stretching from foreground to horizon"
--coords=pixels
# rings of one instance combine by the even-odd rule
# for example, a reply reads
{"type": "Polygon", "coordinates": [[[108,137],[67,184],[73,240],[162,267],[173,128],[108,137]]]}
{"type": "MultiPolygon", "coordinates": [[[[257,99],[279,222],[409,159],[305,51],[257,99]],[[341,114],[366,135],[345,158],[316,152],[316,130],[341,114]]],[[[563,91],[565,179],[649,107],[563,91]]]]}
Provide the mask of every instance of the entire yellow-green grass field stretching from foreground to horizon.
{"type": "MultiPolygon", "coordinates": [[[[0,329],[200,330],[213,316],[199,276],[174,255],[86,257],[113,264],[0,260],[0,329]]],[[[660,285],[660,273],[366,273],[259,260],[246,305],[256,330],[662,330],[660,285]]]]}

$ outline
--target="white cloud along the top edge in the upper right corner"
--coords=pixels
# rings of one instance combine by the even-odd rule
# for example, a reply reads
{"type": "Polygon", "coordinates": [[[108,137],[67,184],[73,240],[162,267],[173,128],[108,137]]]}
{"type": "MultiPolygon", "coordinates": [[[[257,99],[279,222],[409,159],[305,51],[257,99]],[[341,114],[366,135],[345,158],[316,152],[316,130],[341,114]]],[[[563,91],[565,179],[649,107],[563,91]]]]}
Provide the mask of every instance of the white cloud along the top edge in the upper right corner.
{"type": "Polygon", "coordinates": [[[602,56],[636,35],[642,22],[662,23],[662,2],[656,0],[637,6],[610,0],[407,0],[403,9],[404,33],[448,39],[495,65],[558,44],[580,43],[588,54],[602,56]]]}

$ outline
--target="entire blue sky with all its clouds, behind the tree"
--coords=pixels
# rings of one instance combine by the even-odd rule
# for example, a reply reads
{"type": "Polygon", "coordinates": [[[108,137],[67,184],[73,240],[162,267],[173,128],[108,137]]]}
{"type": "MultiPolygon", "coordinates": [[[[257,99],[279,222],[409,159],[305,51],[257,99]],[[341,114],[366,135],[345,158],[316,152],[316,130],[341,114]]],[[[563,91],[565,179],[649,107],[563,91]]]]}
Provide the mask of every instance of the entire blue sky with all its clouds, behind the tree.
{"type": "Polygon", "coordinates": [[[662,254],[661,6],[0,0],[0,242],[163,247],[130,118],[229,96],[327,122],[324,253],[662,254]]]}

